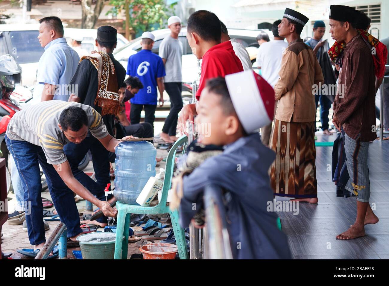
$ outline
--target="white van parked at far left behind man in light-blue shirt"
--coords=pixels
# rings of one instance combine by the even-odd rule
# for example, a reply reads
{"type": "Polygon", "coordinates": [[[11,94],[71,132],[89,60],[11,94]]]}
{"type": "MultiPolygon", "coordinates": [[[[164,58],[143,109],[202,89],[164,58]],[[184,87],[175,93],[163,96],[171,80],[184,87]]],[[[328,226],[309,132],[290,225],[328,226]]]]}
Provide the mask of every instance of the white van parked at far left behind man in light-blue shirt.
{"type": "MultiPolygon", "coordinates": [[[[26,87],[35,85],[38,62],[44,48],[37,39],[39,24],[7,24],[0,25],[0,56],[11,54],[22,67],[21,84],[26,87]]],[[[87,51],[95,49],[96,29],[64,28],[64,37],[70,42],[72,35],[82,36],[81,45],[87,51]]],[[[117,47],[128,44],[128,40],[117,34],[117,47]]]]}

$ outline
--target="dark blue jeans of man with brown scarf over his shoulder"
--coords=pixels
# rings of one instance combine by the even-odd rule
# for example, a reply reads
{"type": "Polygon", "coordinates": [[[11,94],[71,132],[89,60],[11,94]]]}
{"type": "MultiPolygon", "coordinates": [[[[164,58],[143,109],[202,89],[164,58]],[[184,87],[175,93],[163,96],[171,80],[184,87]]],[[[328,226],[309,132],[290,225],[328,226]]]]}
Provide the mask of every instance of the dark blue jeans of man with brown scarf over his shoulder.
{"type": "MultiPolygon", "coordinates": [[[[80,144],[72,142],[66,144],[63,146],[63,152],[68,158],[72,173],[77,181],[95,195],[96,198],[105,201],[104,189],[111,182],[109,177],[109,151],[105,149],[99,140],[89,135],[80,144]],[[89,149],[92,154],[93,170],[95,171],[97,182],[93,181],[91,177],[78,169],[79,163],[88,153],[89,149]]],[[[112,195],[108,195],[108,199],[110,197],[112,195]]],[[[107,223],[107,219],[108,217],[102,216],[96,219],[96,221],[107,223]]]]}

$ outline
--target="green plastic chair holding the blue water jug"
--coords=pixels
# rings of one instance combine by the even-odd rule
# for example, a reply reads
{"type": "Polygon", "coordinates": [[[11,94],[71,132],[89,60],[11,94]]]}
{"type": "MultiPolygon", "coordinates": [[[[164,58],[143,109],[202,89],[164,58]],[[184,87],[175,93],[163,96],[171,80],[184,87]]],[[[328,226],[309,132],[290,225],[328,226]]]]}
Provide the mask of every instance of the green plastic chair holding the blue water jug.
{"type": "Polygon", "coordinates": [[[181,136],[170,149],[166,158],[166,172],[165,179],[162,186],[162,198],[158,205],[154,207],[142,207],[141,205],[128,205],[120,202],[116,203],[117,209],[117,229],[116,229],[116,243],[114,259],[127,259],[128,253],[128,228],[130,227],[131,214],[170,214],[170,219],[173,225],[173,232],[178,247],[180,259],[188,259],[185,231],[180,227],[178,219],[178,211],[171,211],[166,206],[168,191],[172,184],[174,159],[177,147],[184,144],[182,154],[186,149],[187,136],[181,136]],[[124,231],[126,230],[126,231],[124,231]],[[124,239],[121,239],[124,235],[124,239]]]}

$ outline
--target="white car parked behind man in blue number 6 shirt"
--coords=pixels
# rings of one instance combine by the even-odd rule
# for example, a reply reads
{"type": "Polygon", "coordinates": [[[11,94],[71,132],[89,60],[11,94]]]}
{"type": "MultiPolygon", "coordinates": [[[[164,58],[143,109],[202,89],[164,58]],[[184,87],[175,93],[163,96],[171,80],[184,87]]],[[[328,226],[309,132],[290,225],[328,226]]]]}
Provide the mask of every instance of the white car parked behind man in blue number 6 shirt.
{"type": "MultiPolygon", "coordinates": [[[[251,44],[257,43],[256,37],[260,32],[261,30],[228,29],[228,33],[230,34],[231,38],[237,39],[238,42],[248,48],[248,51],[251,54],[250,58],[252,62],[256,60],[256,53],[253,53],[249,46],[251,44]]],[[[170,35],[170,30],[155,30],[151,33],[155,36],[155,43],[154,47],[152,48],[152,52],[158,54],[159,45],[161,44],[162,40],[165,39],[165,37],[170,35]]],[[[269,33],[269,37],[273,39],[272,33],[269,33]]],[[[186,39],[186,28],[181,29],[179,40],[182,42],[183,47],[182,81],[191,83],[198,77],[198,62],[196,56],[192,53],[191,47],[189,46],[189,43],[186,39]]],[[[141,49],[140,41],[141,38],[138,37],[137,39],[131,40],[128,44],[114,51],[116,60],[118,60],[126,70],[128,58],[141,49]]]]}

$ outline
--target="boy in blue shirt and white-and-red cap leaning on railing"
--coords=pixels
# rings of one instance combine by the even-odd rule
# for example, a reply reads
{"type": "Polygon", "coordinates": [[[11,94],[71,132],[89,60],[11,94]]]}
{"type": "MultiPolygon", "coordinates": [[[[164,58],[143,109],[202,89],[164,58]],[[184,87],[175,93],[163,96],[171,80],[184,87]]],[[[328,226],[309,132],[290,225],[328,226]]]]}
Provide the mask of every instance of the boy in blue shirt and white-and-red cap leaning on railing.
{"type": "Polygon", "coordinates": [[[253,71],[210,79],[195,119],[198,126],[208,126],[202,128],[208,132],[193,142],[183,157],[187,168],[193,161],[198,167],[181,175],[183,189],[175,192],[180,225],[189,225],[193,216],[201,213],[205,186],[223,189],[235,259],[291,258],[286,235],[277,229],[277,214],[267,211],[268,202],[273,202],[268,168],[275,155],[261,143],[258,129],[271,122],[273,113],[273,88],[253,71]],[[213,154],[219,150],[219,154],[207,155],[211,150],[213,154]],[[203,160],[205,156],[208,158],[203,160]]]}

